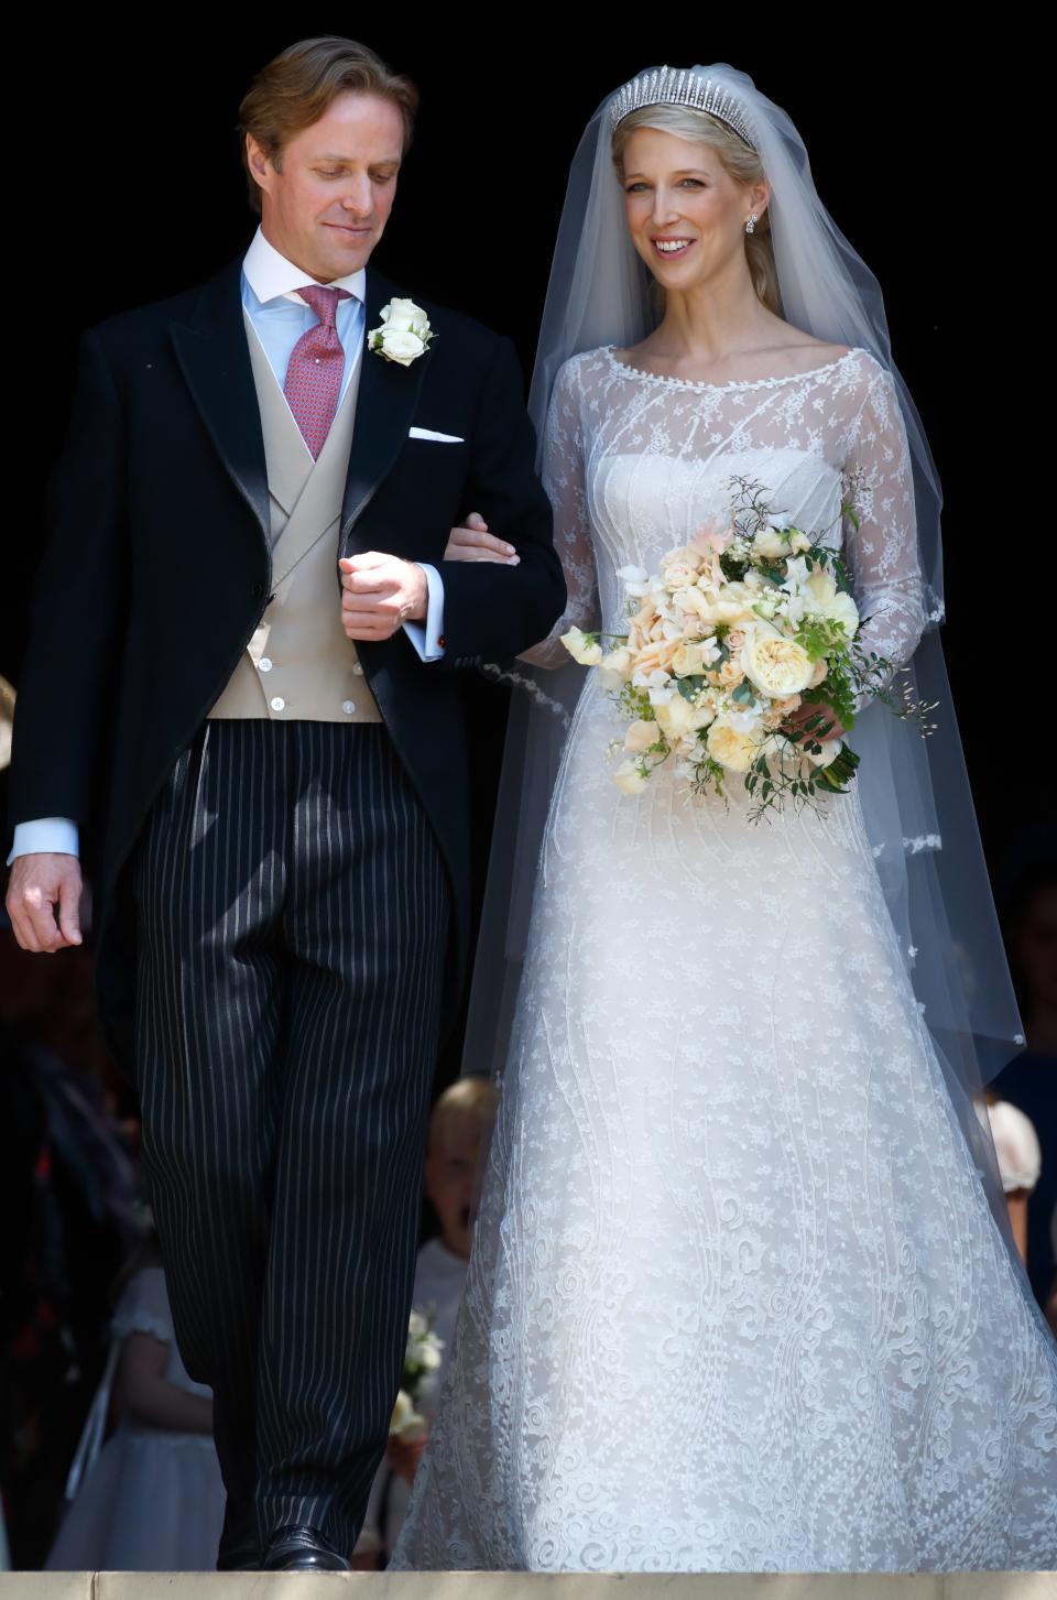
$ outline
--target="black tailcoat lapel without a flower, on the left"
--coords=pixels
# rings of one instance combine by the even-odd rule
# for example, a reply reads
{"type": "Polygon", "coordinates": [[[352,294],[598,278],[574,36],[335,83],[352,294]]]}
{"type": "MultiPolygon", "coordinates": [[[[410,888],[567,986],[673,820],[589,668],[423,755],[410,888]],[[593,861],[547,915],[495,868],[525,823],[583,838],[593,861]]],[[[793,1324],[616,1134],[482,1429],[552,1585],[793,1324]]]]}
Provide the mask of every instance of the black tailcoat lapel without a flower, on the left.
{"type": "Polygon", "coordinates": [[[171,325],[176,358],[235,488],[269,538],[269,478],[241,309],[241,262],[205,285],[190,323],[171,325]]]}

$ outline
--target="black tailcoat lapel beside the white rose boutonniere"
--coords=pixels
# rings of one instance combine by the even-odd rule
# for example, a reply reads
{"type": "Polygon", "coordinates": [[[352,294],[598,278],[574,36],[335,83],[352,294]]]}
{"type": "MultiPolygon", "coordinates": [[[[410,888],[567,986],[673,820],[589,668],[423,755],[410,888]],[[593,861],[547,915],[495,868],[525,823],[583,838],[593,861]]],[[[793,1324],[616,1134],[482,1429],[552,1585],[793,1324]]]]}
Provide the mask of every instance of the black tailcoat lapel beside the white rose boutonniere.
{"type": "MultiPolygon", "coordinates": [[[[389,278],[368,267],[366,333],[377,328],[382,306],[397,293],[389,278]]],[[[365,336],[357,426],[352,435],[349,477],[345,478],[341,512],[342,555],[349,555],[355,549],[355,522],[408,438],[429,360],[430,350],[419,355],[411,366],[387,362],[385,357],[368,349],[365,336]]]]}

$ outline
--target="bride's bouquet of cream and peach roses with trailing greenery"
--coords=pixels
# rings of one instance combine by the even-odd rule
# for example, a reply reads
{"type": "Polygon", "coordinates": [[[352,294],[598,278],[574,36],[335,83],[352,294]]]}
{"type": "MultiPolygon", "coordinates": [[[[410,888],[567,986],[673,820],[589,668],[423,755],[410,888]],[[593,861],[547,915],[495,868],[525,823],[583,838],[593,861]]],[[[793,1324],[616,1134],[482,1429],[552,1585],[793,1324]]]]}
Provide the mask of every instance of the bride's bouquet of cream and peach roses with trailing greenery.
{"type": "MultiPolygon", "coordinates": [[[[771,512],[758,483],[731,486],[729,518],[670,550],[659,573],[620,568],[627,634],[574,627],[563,643],[630,720],[612,747],[625,755],[620,789],[640,794],[673,757],[697,794],[723,795],[742,776],[758,819],[844,792],[859,757],[833,730],[852,726],[862,696],[892,704],[894,667],[859,642],[840,552],[771,512]]],[[[854,520],[851,506],[843,514],[854,520]]]]}

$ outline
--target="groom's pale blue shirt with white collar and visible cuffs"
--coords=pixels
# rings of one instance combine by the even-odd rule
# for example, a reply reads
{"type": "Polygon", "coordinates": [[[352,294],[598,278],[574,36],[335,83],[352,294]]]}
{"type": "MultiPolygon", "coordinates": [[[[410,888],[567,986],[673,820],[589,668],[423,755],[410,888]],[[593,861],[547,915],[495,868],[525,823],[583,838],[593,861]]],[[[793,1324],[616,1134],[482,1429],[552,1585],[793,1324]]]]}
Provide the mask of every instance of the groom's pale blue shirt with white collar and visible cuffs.
{"type": "MultiPolygon", "coordinates": [[[[241,299],[254,333],[261,339],[269,366],[275,373],[280,389],[286,384],[286,366],[297,339],[315,323],[315,312],[297,294],[304,283],[315,283],[302,267],[281,256],[267,242],[262,230],[253,237],[249,250],[241,264],[241,299]]],[[[347,290],[349,299],[337,306],[336,328],[345,352],[345,368],[339,395],[345,397],[345,389],[363,360],[366,333],[366,269],[350,272],[344,278],[320,288],[347,290]]],[[[445,654],[440,638],[445,632],[445,586],[440,573],[427,562],[417,563],[425,573],[429,589],[429,608],[425,624],[405,622],[403,629],[422,661],[438,661],[445,654]]],[[[337,602],[336,602],[337,603],[337,602]]],[[[66,816],[43,816],[32,822],[16,822],[14,843],[8,864],[16,856],[29,856],[37,851],[54,851],[58,854],[80,854],[80,838],[77,822],[66,816]]]]}

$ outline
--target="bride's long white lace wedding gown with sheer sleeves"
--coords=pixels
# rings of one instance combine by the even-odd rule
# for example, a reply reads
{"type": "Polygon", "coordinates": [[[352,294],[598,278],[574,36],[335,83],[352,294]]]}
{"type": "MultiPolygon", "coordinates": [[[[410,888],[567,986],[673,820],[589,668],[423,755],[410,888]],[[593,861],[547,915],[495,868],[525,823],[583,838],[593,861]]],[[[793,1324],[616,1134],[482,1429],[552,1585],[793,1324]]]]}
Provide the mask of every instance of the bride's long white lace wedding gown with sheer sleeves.
{"type": "MultiPolygon", "coordinates": [[[[596,621],[595,566],[619,630],[616,570],[656,570],[732,474],[820,530],[856,469],[867,637],[905,661],[911,488],[873,357],[721,386],[574,357],[545,450],[555,634],[596,621]]],[[[1057,1347],[958,1128],[857,797],[753,826],[739,782],[724,808],[665,768],[628,798],[616,733],[592,675],[393,1565],[1055,1566],[1057,1347]]]]}

